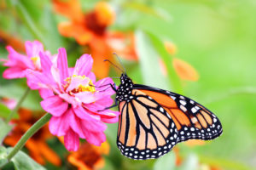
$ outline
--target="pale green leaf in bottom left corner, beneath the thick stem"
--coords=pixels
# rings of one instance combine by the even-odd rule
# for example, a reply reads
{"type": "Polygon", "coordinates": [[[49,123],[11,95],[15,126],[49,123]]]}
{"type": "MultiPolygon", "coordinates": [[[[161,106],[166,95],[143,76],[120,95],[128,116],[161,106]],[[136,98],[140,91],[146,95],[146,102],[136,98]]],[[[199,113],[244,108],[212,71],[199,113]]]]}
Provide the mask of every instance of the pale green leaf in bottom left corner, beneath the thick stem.
{"type": "MultiPolygon", "coordinates": [[[[8,151],[13,148],[8,148],[8,151]]],[[[11,161],[14,162],[15,170],[46,170],[39,165],[36,161],[33,161],[31,157],[27,156],[23,151],[19,151],[11,161]]]]}

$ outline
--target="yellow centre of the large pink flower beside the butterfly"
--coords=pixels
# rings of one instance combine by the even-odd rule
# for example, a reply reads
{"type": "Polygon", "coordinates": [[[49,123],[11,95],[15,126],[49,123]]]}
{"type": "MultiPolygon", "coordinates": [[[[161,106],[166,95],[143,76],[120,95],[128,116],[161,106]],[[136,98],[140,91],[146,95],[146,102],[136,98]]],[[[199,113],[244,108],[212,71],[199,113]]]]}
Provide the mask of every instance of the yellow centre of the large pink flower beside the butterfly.
{"type": "Polygon", "coordinates": [[[85,77],[85,76],[77,76],[77,75],[73,75],[73,77],[67,77],[65,79],[65,82],[67,82],[67,84],[64,85],[64,89],[66,90],[69,85],[72,83],[73,78],[76,78],[77,80],[79,79],[81,81],[81,83],[79,84],[79,86],[77,88],[73,88],[70,93],[73,94],[77,94],[79,92],[90,92],[90,93],[95,93],[96,89],[95,86],[93,84],[93,82],[90,80],[89,77],[85,77]],[[83,81],[87,79],[89,80],[89,82],[87,83],[83,83],[83,81]]]}

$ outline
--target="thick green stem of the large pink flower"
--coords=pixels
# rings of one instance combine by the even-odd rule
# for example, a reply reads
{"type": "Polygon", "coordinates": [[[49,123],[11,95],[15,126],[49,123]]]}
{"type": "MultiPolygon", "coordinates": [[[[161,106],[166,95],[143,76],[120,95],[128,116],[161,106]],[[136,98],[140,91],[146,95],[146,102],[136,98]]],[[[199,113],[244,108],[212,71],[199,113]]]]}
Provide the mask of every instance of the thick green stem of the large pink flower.
{"type": "Polygon", "coordinates": [[[12,159],[13,156],[16,155],[16,153],[26,144],[26,141],[32,137],[34,133],[37,133],[38,130],[44,126],[47,122],[49,122],[51,115],[49,113],[46,113],[44,116],[42,116],[38,122],[35,122],[32,127],[30,127],[25,134],[20,138],[19,142],[15,144],[15,147],[13,150],[11,150],[7,156],[8,161],[12,159]]]}

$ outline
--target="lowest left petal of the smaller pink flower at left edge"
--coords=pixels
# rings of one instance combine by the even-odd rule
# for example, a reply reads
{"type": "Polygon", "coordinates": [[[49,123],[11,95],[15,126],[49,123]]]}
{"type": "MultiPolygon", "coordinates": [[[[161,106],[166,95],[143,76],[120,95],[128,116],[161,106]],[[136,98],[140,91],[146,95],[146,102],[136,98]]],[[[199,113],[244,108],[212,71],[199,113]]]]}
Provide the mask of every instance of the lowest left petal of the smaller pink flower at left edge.
{"type": "Polygon", "coordinates": [[[23,78],[26,77],[26,71],[20,67],[10,67],[3,71],[3,78],[13,79],[13,78],[23,78]]]}

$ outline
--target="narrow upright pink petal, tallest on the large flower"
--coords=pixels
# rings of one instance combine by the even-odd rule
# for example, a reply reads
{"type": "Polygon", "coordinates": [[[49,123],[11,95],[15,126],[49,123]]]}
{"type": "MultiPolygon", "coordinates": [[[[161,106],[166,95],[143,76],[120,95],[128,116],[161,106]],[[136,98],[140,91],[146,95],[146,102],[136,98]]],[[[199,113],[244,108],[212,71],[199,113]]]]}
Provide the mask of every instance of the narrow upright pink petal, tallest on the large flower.
{"type": "Polygon", "coordinates": [[[60,71],[61,81],[64,81],[68,77],[67,52],[65,48],[59,48],[57,65],[60,71]]]}

